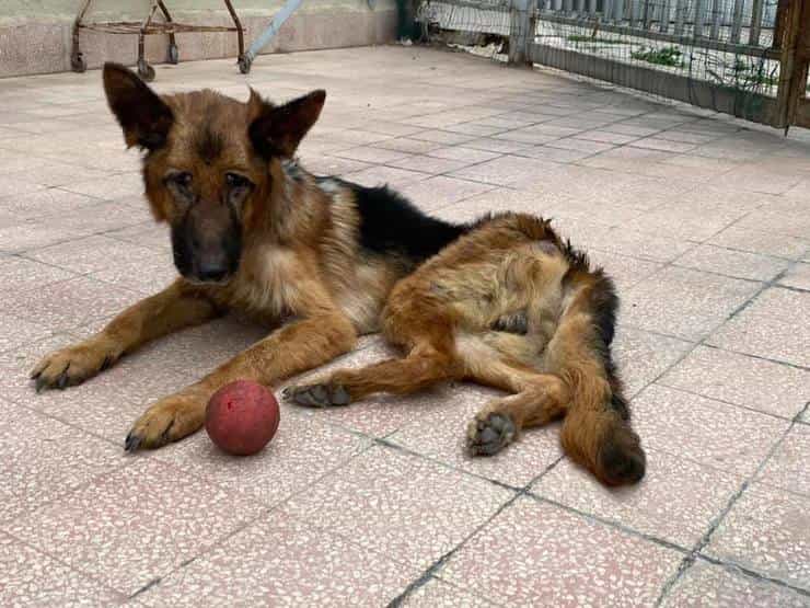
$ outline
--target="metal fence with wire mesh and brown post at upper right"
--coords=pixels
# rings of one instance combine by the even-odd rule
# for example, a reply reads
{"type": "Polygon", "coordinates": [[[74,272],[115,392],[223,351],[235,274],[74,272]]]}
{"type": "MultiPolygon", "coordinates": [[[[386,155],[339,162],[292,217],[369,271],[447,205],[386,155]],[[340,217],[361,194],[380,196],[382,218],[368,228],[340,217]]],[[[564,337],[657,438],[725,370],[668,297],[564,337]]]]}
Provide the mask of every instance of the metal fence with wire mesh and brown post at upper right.
{"type": "Polygon", "coordinates": [[[417,14],[429,37],[494,58],[810,127],[810,0],[423,0],[417,14]]]}

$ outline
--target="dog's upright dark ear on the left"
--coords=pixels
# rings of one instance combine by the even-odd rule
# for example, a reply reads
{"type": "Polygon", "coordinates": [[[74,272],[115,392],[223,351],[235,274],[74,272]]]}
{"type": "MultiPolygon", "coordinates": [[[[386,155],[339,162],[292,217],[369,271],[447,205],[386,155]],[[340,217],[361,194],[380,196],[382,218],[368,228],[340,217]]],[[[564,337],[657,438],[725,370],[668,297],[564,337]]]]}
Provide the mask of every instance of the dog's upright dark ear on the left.
{"type": "Polygon", "coordinates": [[[172,110],[134,72],[118,64],[104,64],[104,92],[127,146],[157,150],[166,142],[172,110]]]}

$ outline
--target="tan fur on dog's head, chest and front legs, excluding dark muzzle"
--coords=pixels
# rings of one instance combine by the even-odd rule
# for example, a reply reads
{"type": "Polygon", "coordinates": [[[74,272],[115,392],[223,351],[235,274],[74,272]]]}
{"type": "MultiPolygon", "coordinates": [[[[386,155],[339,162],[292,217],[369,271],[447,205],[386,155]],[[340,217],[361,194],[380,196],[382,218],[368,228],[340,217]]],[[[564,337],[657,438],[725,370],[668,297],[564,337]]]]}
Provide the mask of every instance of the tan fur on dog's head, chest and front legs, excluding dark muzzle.
{"type": "Polygon", "coordinates": [[[47,355],[33,372],[37,387],[79,383],[150,340],[228,310],[246,312],[267,326],[281,325],[199,382],[149,408],[135,423],[127,448],[157,447],[197,431],[209,397],[224,383],[250,378],[271,387],[349,351],[359,333],[377,329],[389,291],[407,268],[397,256],[361,251],[350,190],[337,182],[321,187],[290,160],[317,118],[322,93],[302,97],[297,113],[278,115],[255,93],[247,103],[212,91],[158,97],[124,68],[105,68],[104,76],[129,146],[149,146],[149,137],[164,134],[169,119],[160,112],[171,112],[165,141],[143,163],[147,199],[159,221],[174,226],[185,213],[165,184],[174,171],[194,174],[195,193],[204,202],[221,198],[228,172],[255,184],[239,209],[241,262],[225,285],[177,279],[95,336],[47,355]],[[142,115],[144,105],[153,107],[151,114],[142,115]],[[271,117],[265,128],[278,149],[269,160],[248,140],[248,127],[263,114],[271,117]]]}

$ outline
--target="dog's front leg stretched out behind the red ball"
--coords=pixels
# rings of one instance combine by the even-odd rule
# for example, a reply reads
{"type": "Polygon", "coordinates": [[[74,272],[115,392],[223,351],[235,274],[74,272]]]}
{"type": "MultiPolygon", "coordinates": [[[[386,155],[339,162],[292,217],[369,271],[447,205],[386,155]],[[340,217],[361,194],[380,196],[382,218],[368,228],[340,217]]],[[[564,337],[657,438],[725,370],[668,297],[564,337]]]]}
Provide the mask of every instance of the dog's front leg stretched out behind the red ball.
{"type": "Polygon", "coordinates": [[[127,435],[125,449],[157,448],[198,431],[210,397],[233,380],[251,379],[271,387],[349,352],[356,341],[355,328],[338,311],[285,325],[199,382],[149,408],[127,435]]]}

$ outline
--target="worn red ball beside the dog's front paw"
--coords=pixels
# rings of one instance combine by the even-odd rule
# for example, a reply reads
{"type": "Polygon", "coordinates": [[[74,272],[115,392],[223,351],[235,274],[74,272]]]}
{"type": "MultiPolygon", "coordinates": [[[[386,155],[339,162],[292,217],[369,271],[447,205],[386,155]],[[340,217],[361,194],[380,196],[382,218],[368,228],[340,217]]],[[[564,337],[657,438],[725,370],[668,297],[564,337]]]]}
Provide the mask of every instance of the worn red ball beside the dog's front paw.
{"type": "Polygon", "coordinates": [[[221,449],[250,456],[264,448],[278,429],[278,401],[252,380],[236,380],[213,393],[206,408],[206,431],[221,449]]]}

